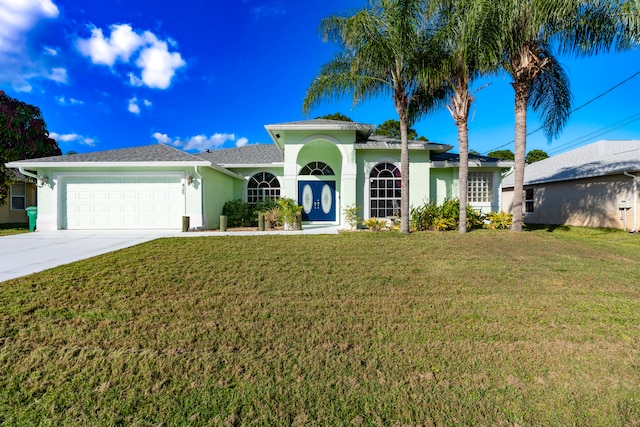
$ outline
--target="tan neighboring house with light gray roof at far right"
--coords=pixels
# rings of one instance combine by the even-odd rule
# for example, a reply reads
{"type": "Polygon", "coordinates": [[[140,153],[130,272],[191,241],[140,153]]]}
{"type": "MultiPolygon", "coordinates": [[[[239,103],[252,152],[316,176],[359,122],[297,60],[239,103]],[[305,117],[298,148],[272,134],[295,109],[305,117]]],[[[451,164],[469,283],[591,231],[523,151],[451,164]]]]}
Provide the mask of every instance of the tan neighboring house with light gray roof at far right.
{"type": "MultiPolygon", "coordinates": [[[[636,231],[640,141],[598,141],[527,165],[525,223],[636,231]]],[[[510,212],[513,175],[504,179],[502,207],[510,212]]]]}

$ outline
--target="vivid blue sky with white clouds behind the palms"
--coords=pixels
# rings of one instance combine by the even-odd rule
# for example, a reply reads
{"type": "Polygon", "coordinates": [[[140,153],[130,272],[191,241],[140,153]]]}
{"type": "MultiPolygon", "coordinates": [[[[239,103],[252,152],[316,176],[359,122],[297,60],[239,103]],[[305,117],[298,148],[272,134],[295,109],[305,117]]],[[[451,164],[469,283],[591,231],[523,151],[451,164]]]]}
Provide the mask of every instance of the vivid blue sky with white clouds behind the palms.
{"type": "MultiPolygon", "coordinates": [[[[341,112],[378,125],[390,99],[349,99],[302,114],[335,46],[320,20],[367,0],[0,0],[0,89],[41,108],[63,152],[167,143],[190,152],[271,143],[265,124],[341,112]]],[[[640,71],[640,52],[562,58],[579,106],[640,71]]],[[[478,82],[470,147],[513,149],[507,76],[478,82]]],[[[640,76],[574,113],[562,135],[528,149],[559,153],[599,139],[640,139],[640,76]]],[[[538,127],[530,114],[529,129],[538,127]]],[[[457,150],[446,110],[414,126],[457,150]]]]}

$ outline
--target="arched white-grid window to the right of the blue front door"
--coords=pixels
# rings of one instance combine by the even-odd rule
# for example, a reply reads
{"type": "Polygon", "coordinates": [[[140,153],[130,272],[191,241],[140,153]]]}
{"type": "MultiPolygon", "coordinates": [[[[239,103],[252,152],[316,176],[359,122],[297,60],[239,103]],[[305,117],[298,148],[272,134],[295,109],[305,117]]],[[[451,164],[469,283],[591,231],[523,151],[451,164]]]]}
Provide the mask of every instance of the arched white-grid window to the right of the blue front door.
{"type": "Polygon", "coordinates": [[[393,163],[380,163],[369,175],[371,217],[400,216],[401,174],[393,163]]]}

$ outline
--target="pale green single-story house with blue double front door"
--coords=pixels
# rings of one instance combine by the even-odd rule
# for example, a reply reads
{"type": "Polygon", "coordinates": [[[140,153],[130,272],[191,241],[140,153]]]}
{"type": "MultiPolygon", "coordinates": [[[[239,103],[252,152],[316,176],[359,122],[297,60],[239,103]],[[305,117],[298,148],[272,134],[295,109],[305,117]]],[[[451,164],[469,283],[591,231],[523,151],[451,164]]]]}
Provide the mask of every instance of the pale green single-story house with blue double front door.
{"type": "MultiPolygon", "coordinates": [[[[374,126],[304,120],[265,126],[273,144],[189,154],[154,144],[10,162],[42,177],[38,229],[215,229],[225,202],[290,197],[303,223],[348,227],[347,206],[386,218],[400,208],[400,141],[372,135],[374,126]]],[[[410,142],[410,201],[442,203],[458,194],[453,147],[410,142]]],[[[497,211],[501,182],[513,162],[471,156],[469,202],[497,211]]]]}

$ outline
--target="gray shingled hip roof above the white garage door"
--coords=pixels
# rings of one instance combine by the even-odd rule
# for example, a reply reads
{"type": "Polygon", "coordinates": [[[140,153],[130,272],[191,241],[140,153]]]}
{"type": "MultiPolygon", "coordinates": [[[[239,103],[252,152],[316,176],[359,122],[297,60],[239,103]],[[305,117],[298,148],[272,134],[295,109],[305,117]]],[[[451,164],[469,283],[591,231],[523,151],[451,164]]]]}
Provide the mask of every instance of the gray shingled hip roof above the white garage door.
{"type": "Polygon", "coordinates": [[[64,156],[40,157],[7,163],[8,167],[40,168],[91,166],[210,166],[211,163],[193,154],[186,153],[165,144],[93,153],[67,154],[64,156]]]}

